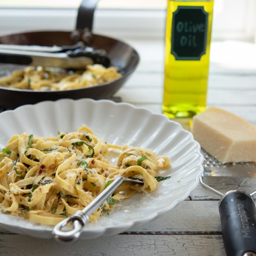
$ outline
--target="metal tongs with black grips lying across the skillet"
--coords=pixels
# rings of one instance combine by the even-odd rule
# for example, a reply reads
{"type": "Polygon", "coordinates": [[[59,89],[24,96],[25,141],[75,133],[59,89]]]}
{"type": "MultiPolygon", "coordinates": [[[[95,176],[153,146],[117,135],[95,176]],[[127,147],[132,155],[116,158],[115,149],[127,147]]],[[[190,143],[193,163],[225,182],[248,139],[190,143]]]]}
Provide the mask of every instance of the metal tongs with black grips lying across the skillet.
{"type": "Polygon", "coordinates": [[[0,44],[0,62],[67,69],[84,69],[92,64],[110,65],[105,50],[79,43],[63,47],[0,44]]]}

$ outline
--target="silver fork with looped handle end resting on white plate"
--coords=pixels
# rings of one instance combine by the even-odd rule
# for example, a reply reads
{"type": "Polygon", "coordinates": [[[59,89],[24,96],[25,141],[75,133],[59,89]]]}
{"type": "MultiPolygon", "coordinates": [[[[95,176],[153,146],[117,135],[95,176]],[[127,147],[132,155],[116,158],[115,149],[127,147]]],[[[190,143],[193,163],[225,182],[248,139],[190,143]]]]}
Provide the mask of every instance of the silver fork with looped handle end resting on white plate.
{"type": "Polygon", "coordinates": [[[59,242],[73,242],[79,238],[82,229],[89,222],[89,216],[104,203],[110,195],[122,184],[122,182],[135,182],[144,184],[140,180],[128,179],[123,176],[113,181],[101,194],[99,194],[84,209],[77,211],[73,216],[58,223],[53,229],[54,238],[59,242]],[[71,227],[67,227],[70,224],[71,227]],[[65,230],[66,229],[66,230],[65,230]]]}

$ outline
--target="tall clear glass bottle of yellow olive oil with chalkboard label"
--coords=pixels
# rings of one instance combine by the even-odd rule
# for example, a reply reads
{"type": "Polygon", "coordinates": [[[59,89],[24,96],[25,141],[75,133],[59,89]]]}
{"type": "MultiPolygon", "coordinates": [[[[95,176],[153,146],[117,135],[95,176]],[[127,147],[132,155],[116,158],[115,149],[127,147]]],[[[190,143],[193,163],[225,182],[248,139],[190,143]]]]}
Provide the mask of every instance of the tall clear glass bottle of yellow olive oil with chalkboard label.
{"type": "Polygon", "coordinates": [[[213,0],[168,0],[162,111],[192,117],[206,108],[213,0]]]}

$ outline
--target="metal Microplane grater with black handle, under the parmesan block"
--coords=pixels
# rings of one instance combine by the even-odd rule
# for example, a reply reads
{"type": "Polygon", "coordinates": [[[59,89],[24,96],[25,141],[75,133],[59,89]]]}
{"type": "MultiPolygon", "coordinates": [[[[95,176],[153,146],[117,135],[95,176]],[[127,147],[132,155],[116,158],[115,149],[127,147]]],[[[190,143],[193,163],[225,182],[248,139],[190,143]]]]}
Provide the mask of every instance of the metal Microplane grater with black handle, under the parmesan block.
{"type": "Polygon", "coordinates": [[[256,256],[256,207],[252,196],[256,190],[249,193],[234,188],[225,194],[214,189],[209,184],[231,185],[235,179],[253,181],[256,189],[256,162],[239,162],[222,164],[203,149],[204,172],[200,178],[201,185],[221,197],[219,212],[222,223],[223,243],[227,256],[256,256]],[[242,178],[242,179],[241,179],[242,178]]]}

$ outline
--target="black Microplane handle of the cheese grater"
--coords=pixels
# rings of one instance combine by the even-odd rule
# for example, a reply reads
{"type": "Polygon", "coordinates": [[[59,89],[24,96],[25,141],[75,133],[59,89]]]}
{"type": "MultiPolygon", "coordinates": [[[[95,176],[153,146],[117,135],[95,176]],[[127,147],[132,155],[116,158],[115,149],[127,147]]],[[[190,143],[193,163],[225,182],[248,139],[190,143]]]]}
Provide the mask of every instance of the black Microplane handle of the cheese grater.
{"type": "Polygon", "coordinates": [[[256,208],[251,196],[231,190],[222,196],[219,212],[227,256],[256,255],[256,208]]]}

